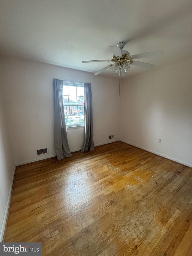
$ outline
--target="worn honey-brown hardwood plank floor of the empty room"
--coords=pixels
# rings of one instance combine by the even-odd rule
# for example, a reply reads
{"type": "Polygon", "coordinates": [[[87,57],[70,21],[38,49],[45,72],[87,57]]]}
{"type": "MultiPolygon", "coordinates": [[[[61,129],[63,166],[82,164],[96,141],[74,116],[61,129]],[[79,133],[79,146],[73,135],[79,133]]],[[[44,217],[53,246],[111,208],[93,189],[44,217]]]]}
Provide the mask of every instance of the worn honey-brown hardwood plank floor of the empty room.
{"type": "Polygon", "coordinates": [[[192,255],[192,169],[123,142],[17,167],[5,242],[42,255],[192,255]]]}

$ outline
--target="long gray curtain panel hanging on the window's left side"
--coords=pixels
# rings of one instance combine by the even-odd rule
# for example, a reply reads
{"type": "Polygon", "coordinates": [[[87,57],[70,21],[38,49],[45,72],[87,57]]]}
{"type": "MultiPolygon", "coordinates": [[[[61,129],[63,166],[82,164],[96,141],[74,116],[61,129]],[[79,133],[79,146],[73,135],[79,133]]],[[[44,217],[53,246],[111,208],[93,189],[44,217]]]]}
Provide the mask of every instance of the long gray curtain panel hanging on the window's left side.
{"type": "Polygon", "coordinates": [[[53,79],[53,87],[55,92],[55,152],[57,159],[70,157],[69,144],[67,140],[67,130],[65,124],[64,106],[63,106],[63,80],[53,79]]]}

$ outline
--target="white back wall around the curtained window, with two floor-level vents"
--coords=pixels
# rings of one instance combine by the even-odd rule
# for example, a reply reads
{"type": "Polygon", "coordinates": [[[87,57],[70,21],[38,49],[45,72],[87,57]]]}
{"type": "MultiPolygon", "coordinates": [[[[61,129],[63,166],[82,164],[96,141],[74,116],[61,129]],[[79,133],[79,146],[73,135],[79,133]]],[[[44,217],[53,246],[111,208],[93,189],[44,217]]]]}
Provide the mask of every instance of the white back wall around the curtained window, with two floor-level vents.
{"type": "MultiPolygon", "coordinates": [[[[90,82],[93,98],[94,144],[119,140],[118,79],[62,68],[41,62],[1,58],[4,111],[16,164],[42,159],[35,150],[49,148],[45,158],[55,156],[53,138],[53,78],[90,82]],[[114,140],[108,136],[114,134],[114,140]]],[[[83,146],[84,128],[67,130],[71,151],[83,146]]]]}

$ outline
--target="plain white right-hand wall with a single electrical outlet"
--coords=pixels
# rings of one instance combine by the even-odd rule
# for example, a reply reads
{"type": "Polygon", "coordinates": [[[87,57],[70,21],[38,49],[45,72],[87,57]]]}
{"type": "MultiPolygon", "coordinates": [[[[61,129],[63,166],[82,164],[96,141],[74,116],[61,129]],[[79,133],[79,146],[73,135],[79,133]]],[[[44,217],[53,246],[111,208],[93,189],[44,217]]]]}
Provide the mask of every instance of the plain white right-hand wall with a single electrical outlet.
{"type": "Polygon", "coordinates": [[[123,80],[120,140],[192,167],[191,70],[192,59],[123,80]]]}

